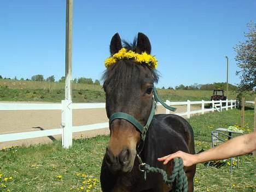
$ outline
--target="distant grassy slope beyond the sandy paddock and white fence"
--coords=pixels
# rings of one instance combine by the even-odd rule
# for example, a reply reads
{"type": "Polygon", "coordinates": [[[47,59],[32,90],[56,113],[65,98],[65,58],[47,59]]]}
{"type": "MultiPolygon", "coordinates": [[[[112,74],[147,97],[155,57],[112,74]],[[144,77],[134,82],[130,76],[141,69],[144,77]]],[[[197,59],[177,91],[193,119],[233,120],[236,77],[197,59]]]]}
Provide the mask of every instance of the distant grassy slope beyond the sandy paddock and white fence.
{"type": "MultiPolygon", "coordinates": [[[[64,83],[18,81],[0,79],[0,101],[42,101],[61,102],[64,99],[64,83]]],[[[72,84],[73,102],[104,102],[105,94],[100,85],[72,84]]],[[[212,91],[158,89],[163,100],[200,101],[210,100],[212,91]]],[[[236,99],[236,92],[229,92],[229,99],[236,99]]],[[[246,100],[254,100],[246,95],[246,100]]]]}

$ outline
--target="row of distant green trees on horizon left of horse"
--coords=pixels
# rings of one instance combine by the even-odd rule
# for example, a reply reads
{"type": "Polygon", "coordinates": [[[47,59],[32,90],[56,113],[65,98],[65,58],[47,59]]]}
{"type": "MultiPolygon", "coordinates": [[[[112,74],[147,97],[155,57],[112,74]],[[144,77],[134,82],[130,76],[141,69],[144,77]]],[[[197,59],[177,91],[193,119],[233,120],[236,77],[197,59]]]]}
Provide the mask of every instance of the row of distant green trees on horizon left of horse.
{"type": "MultiPolygon", "coordinates": [[[[11,78],[7,78],[7,77],[3,78],[2,75],[0,75],[0,79],[11,79],[11,78]]],[[[14,80],[18,80],[18,79],[15,77],[14,80]]],[[[20,78],[20,80],[25,80],[25,79],[24,78],[20,78]]],[[[49,77],[47,77],[45,79],[44,75],[42,75],[42,74],[33,75],[31,77],[31,79],[26,79],[26,80],[33,80],[35,82],[59,82],[59,83],[65,83],[65,77],[64,76],[62,76],[59,80],[55,80],[54,75],[51,75],[51,76],[49,76],[49,77]]],[[[91,78],[80,77],[80,78],[73,79],[73,83],[100,85],[100,80],[96,79],[95,81],[93,81],[91,78]]]]}

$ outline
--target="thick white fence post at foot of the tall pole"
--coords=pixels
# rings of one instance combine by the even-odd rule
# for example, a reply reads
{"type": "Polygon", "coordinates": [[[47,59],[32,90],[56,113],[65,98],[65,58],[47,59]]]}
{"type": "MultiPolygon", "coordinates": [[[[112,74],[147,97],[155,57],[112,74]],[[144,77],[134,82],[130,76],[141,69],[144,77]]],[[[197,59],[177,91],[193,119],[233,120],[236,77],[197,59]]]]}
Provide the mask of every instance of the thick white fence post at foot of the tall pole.
{"type": "Polygon", "coordinates": [[[63,118],[61,120],[61,126],[63,129],[61,141],[62,147],[67,149],[72,146],[72,101],[62,100],[61,104],[61,117],[63,118]]]}

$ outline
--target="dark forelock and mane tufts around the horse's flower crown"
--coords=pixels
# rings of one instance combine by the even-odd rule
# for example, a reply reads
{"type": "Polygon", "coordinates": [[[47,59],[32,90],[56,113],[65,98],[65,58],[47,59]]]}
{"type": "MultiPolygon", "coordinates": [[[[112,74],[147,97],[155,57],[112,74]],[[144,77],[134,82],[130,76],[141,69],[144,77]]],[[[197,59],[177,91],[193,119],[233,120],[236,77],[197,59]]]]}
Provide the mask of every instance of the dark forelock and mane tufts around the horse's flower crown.
{"type": "MultiPolygon", "coordinates": [[[[122,41],[124,48],[139,53],[137,38],[135,38],[132,43],[128,43],[126,40],[122,41]]],[[[109,85],[112,88],[120,84],[125,87],[125,84],[127,83],[133,84],[139,82],[141,70],[146,67],[148,67],[146,64],[138,65],[131,60],[119,60],[103,72],[101,79],[103,80],[104,85],[109,85]]],[[[158,83],[158,71],[156,71],[156,69],[150,69],[150,71],[152,72],[153,83],[158,83]]]]}

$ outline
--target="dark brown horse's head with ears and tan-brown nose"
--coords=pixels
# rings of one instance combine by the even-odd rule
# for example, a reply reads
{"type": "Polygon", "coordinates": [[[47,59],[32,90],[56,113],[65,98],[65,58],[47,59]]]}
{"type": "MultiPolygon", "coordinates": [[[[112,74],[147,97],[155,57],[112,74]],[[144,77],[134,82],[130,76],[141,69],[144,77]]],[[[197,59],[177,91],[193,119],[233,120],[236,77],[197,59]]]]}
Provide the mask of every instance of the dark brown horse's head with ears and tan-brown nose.
{"type": "MultiPolygon", "coordinates": [[[[149,39],[143,33],[138,33],[133,44],[124,42],[124,47],[137,54],[150,54],[151,51],[149,39]]],[[[110,43],[110,54],[113,56],[122,48],[120,36],[116,33],[110,43]]],[[[154,82],[158,81],[155,69],[146,62],[119,59],[106,69],[103,80],[108,118],[113,113],[123,112],[145,125],[152,109],[154,82]]],[[[136,157],[136,147],[141,139],[140,132],[125,119],[114,119],[110,122],[109,129],[107,165],[112,171],[130,172],[136,157]]]]}

